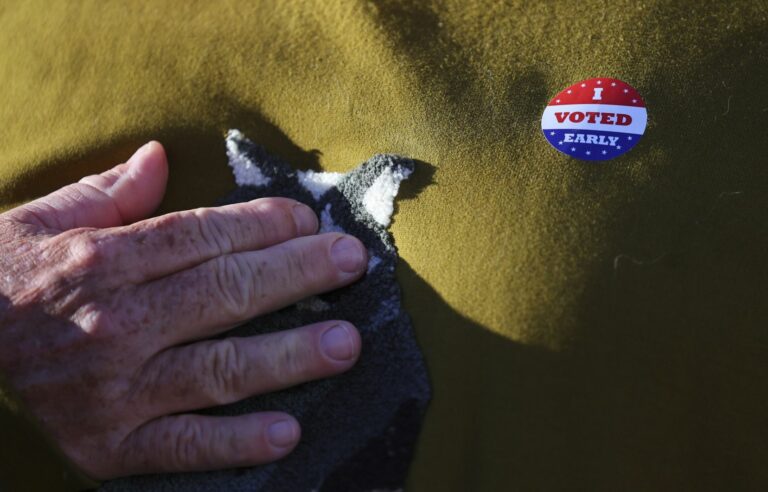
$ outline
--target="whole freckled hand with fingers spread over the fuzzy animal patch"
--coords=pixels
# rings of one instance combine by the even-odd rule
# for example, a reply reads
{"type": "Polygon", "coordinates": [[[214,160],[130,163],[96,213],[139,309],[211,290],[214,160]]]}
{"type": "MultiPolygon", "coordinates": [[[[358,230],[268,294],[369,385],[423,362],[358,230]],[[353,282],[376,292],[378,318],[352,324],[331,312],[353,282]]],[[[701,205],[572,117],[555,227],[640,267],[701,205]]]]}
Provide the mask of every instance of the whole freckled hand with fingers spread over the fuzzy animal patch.
{"type": "Polygon", "coordinates": [[[327,321],[197,341],[365,271],[350,236],[294,200],[147,217],[163,148],[0,215],[0,372],[96,479],[269,462],[299,439],[280,412],[185,413],[343,372],[360,337],[327,321]]]}

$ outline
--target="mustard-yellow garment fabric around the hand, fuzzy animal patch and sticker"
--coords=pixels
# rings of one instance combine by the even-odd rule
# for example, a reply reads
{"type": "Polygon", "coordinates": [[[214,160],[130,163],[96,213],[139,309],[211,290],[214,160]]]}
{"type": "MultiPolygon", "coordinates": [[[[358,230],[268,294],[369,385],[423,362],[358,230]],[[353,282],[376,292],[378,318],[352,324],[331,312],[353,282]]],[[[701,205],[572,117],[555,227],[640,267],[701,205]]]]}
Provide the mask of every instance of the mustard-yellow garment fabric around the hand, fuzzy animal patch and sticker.
{"type": "Polygon", "coordinates": [[[391,230],[434,395],[410,490],[765,489],[767,15],[2,2],[0,202],[155,138],[163,210],[208,205],[231,190],[233,127],[302,169],[412,156],[391,230]],[[539,129],[552,96],[596,76],[635,87],[649,118],[602,164],[539,129]]]}

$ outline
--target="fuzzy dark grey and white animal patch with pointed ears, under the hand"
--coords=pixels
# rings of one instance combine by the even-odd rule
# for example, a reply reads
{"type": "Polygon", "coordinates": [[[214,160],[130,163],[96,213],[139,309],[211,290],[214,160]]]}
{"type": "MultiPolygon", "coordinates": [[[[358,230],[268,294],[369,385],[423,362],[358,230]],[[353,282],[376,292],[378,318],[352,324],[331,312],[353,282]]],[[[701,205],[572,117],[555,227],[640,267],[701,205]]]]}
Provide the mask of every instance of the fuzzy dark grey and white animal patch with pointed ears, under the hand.
{"type": "Polygon", "coordinates": [[[413,161],[378,155],[349,173],[332,176],[334,184],[320,187],[329,180],[293,170],[239,132],[230,132],[227,149],[240,186],[223,203],[278,194],[300,200],[320,217],[320,232],[343,231],[359,238],[368,250],[369,263],[362,280],[256,318],[224,336],[245,337],[344,319],[360,331],[362,355],[346,374],[210,411],[240,415],[280,410],[294,415],[302,426],[302,440],[279,462],[245,470],[115,480],[100,490],[401,489],[429,401],[429,382],[410,320],[400,305],[397,250],[386,230],[389,216],[377,218],[378,209],[371,205],[391,207],[400,180],[413,171],[413,161]],[[378,186],[387,177],[391,188],[378,186]]]}

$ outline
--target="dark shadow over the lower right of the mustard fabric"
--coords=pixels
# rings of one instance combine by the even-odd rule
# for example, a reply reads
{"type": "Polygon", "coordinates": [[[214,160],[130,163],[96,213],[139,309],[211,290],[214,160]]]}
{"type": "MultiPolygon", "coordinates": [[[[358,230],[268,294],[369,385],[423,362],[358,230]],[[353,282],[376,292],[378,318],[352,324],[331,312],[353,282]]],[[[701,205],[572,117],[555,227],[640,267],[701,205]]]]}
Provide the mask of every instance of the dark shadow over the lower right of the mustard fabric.
{"type": "MultiPolygon", "coordinates": [[[[652,126],[625,160],[652,181],[611,218],[566,349],[488,331],[400,260],[434,388],[411,490],[765,489],[766,45],[752,32],[702,64],[658,57],[652,126]],[[745,66],[763,68],[732,75],[745,66]]],[[[583,186],[606,174],[583,167],[583,186]]]]}

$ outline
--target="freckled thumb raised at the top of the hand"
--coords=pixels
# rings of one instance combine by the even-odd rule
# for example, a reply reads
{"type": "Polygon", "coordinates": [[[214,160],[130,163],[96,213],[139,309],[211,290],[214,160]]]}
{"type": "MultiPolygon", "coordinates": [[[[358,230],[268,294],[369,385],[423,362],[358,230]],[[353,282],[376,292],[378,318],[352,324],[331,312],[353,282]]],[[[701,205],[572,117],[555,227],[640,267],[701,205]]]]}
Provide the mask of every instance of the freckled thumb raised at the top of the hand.
{"type": "Polygon", "coordinates": [[[11,212],[19,222],[65,231],[113,227],[146,218],[160,204],[168,161],[159,142],[139,148],[124,164],[87,176],[11,212]]]}

